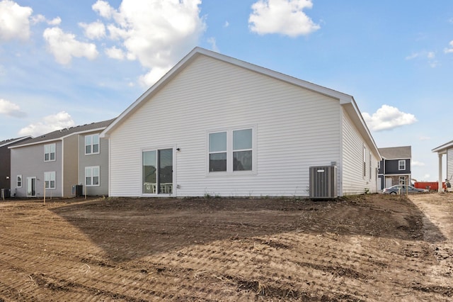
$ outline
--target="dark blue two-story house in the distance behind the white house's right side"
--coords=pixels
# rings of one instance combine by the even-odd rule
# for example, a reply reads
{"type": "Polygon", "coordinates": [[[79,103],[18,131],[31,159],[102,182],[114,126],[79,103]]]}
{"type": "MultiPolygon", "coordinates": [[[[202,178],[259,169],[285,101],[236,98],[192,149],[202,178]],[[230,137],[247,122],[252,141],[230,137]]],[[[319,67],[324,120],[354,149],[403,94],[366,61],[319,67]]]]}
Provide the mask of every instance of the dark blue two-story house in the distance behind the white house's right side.
{"type": "Polygon", "coordinates": [[[411,184],[411,146],[379,148],[378,189],[396,184],[411,184]]]}

